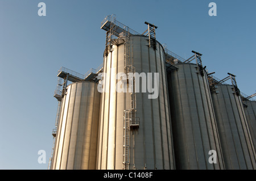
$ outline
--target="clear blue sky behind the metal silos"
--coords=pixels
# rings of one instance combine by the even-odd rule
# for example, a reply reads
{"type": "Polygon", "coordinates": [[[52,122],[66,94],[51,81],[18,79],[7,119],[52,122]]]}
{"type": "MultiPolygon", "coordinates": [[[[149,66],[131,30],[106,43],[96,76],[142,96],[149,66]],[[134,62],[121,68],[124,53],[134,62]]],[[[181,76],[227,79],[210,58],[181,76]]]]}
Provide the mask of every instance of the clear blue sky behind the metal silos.
{"type": "Polygon", "coordinates": [[[215,77],[237,75],[240,90],[256,90],[256,1],[0,0],[0,169],[47,169],[55,128],[57,70],[85,74],[103,61],[107,15],[137,32],[145,21],[156,39],[184,58],[203,54],[215,77]],[[46,16],[38,16],[38,3],[46,16]],[[210,2],[217,16],[209,16],[210,2]],[[38,150],[47,162],[38,163],[38,150]]]}

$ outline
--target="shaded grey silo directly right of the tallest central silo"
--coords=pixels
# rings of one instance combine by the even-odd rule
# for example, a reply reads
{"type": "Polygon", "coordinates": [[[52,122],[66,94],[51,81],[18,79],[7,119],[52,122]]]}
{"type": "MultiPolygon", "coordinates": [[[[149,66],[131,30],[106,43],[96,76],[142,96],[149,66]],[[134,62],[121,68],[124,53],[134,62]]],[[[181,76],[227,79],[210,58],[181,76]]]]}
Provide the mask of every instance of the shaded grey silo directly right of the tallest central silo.
{"type": "Polygon", "coordinates": [[[224,169],[216,119],[205,70],[176,64],[167,73],[177,169],[224,169]],[[210,163],[210,150],[217,163],[210,163]]]}

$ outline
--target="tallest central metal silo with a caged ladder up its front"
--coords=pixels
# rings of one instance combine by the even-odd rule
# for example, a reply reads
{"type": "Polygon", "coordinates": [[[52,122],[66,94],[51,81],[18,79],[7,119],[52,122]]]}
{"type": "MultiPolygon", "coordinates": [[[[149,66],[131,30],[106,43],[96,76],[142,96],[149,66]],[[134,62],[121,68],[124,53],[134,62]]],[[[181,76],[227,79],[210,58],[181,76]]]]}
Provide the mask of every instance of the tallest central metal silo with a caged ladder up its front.
{"type": "Polygon", "coordinates": [[[103,78],[106,92],[102,92],[98,169],[124,169],[124,154],[129,154],[129,169],[175,169],[162,45],[156,41],[154,49],[148,46],[148,37],[129,36],[125,43],[110,47],[110,52],[104,57],[104,73],[109,76],[103,78]],[[129,54],[135,72],[147,76],[146,87],[142,87],[145,79],[136,80],[140,86],[135,102],[139,128],[129,131],[127,153],[124,151],[126,125],[123,120],[124,111],[131,107],[131,93],[117,92],[120,79],[115,79],[117,73],[124,73],[125,54],[126,57],[129,54]],[[152,78],[147,73],[152,73],[152,78]],[[159,81],[154,82],[154,73],[159,73],[159,81]],[[159,95],[155,99],[148,98],[153,94],[149,93],[152,89],[142,90],[150,87],[148,83],[152,81],[152,87],[159,86],[159,95]]]}

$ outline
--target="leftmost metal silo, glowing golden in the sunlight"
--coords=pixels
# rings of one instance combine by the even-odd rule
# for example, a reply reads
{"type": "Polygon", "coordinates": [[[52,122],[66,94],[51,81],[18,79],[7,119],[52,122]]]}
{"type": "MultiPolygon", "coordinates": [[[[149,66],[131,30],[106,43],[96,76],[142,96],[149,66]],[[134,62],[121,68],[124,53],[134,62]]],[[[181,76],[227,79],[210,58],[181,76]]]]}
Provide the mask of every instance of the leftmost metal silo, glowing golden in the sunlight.
{"type": "Polygon", "coordinates": [[[97,169],[100,100],[97,83],[77,82],[67,86],[51,169],[97,169]]]}

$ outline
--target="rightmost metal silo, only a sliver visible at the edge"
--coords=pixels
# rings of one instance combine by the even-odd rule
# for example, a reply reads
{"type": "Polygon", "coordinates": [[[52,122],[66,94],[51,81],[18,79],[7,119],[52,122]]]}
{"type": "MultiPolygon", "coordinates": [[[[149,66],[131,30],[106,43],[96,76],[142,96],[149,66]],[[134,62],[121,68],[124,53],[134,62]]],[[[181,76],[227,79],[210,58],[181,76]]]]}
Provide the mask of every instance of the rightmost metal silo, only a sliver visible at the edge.
{"type": "Polygon", "coordinates": [[[256,101],[245,101],[243,103],[247,106],[244,108],[245,116],[256,150],[256,101]]]}

